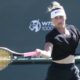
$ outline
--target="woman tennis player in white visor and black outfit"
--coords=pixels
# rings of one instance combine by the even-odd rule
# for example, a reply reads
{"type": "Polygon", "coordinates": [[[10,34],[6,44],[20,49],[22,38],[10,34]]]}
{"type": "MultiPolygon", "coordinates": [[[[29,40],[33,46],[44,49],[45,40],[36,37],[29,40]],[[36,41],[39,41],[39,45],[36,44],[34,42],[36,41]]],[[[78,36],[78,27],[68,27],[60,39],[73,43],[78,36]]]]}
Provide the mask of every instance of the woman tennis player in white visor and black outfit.
{"type": "Polygon", "coordinates": [[[58,2],[49,7],[54,29],[46,35],[44,50],[36,49],[42,57],[52,57],[46,80],[80,80],[75,65],[75,50],[80,32],[73,25],[66,24],[66,13],[58,2]]]}

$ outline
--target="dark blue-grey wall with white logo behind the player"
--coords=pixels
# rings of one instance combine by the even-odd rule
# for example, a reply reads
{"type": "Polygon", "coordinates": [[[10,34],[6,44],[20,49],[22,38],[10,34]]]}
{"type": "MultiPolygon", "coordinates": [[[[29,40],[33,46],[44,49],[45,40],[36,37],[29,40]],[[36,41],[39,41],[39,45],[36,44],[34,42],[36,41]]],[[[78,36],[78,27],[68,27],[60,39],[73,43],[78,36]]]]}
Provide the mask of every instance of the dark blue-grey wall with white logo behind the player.
{"type": "MultiPolygon", "coordinates": [[[[0,46],[17,52],[43,49],[45,35],[53,29],[47,7],[54,0],[0,0],[0,46]]],[[[67,24],[80,30],[80,1],[56,0],[67,13],[67,24]]],[[[76,51],[80,53],[80,45],[76,51]]],[[[50,64],[10,65],[1,80],[44,80],[50,64]]],[[[80,66],[80,64],[77,64],[80,66]]]]}

